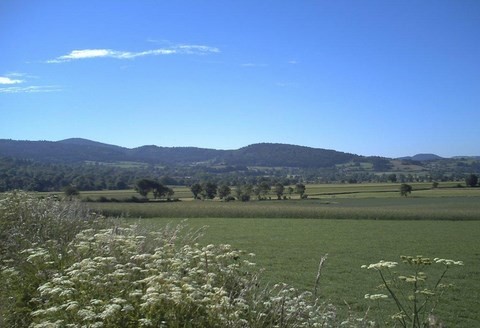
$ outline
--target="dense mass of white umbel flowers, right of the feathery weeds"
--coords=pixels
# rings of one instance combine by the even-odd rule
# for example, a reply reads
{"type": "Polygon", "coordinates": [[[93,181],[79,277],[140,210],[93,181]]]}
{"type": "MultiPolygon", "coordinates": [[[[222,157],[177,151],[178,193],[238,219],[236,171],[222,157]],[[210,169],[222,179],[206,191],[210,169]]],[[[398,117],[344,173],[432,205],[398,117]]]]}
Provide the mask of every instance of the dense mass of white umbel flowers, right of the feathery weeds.
{"type": "Polygon", "coordinates": [[[135,226],[80,232],[68,251],[76,261],[39,286],[31,327],[323,327],[337,320],[311,293],[261,288],[253,254],[175,238],[149,246],[158,238],[135,226]]]}

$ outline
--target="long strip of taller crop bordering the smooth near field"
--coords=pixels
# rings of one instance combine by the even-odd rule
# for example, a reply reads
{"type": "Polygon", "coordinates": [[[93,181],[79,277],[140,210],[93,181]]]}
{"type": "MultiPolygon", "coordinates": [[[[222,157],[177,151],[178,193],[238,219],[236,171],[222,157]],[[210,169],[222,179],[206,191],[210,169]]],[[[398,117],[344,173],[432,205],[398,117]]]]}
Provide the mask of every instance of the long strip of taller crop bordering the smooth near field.
{"type": "MultiPolygon", "coordinates": [[[[480,191],[480,190],[479,190],[480,191]]],[[[309,218],[477,220],[479,197],[321,198],[286,201],[90,203],[112,216],[181,218],[309,218]]]]}

